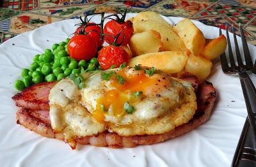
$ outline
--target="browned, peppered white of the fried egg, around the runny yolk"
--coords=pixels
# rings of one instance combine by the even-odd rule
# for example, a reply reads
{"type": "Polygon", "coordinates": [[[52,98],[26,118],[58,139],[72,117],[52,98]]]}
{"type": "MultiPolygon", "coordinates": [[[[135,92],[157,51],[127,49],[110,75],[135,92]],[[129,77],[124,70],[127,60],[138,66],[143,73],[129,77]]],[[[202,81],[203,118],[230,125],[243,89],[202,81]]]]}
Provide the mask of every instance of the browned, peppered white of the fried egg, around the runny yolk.
{"type": "MultiPolygon", "coordinates": [[[[122,70],[127,75],[141,73],[134,68],[122,70]]],[[[122,136],[166,133],[188,122],[195,114],[196,96],[192,85],[157,71],[151,77],[156,77],[159,83],[145,89],[143,98],[134,104],[134,112],[122,112],[118,116],[106,112],[105,122],[97,122],[92,116],[97,99],[115,87],[111,86],[111,80],[102,80],[100,72],[84,77],[86,84],[81,90],[65,78],[50,91],[52,128],[64,133],[68,143],[106,130],[122,136]]],[[[126,93],[127,97],[132,96],[129,90],[126,93]]]]}

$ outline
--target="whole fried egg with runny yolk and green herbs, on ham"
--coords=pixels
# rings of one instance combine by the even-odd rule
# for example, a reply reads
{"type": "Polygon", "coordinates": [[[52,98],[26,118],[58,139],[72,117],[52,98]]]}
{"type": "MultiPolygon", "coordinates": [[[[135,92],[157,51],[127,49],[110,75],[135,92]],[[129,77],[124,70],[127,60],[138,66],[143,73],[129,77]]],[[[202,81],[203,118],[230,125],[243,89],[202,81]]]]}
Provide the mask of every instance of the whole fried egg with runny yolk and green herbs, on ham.
{"type": "Polygon", "coordinates": [[[121,136],[167,133],[196,111],[191,83],[162,71],[126,67],[84,78],[83,89],[65,78],[49,95],[51,126],[71,145],[76,138],[104,131],[121,136]]]}

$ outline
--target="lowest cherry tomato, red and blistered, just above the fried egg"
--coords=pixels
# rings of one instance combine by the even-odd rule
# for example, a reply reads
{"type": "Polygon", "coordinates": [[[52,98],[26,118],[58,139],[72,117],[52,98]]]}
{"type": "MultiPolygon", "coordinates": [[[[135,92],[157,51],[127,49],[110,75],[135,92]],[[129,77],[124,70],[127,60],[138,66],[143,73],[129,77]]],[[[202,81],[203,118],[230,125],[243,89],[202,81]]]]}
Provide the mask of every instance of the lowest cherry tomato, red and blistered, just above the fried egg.
{"type": "Polygon", "coordinates": [[[129,55],[122,47],[107,46],[103,47],[98,54],[100,67],[104,70],[115,66],[118,68],[124,62],[128,62],[129,55]]]}

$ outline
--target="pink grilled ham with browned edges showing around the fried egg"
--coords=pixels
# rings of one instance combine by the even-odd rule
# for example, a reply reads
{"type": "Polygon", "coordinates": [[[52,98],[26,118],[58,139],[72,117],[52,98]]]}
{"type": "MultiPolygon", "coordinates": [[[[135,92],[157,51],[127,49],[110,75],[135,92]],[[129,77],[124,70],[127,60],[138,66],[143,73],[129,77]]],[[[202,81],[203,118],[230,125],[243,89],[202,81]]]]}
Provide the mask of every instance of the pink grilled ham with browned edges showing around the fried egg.
{"type": "MultiPolygon", "coordinates": [[[[214,101],[216,99],[216,91],[210,82],[204,82],[198,85],[198,80],[195,77],[188,76],[184,77],[184,80],[190,81],[194,87],[198,87],[197,91],[197,99],[198,99],[198,110],[195,113],[195,116],[193,119],[191,119],[187,124],[183,124],[182,126],[178,126],[169,133],[164,134],[153,134],[153,135],[142,135],[142,136],[119,136],[116,133],[100,133],[97,136],[85,136],[83,138],[78,138],[77,143],[80,143],[82,145],[90,144],[95,145],[97,147],[112,147],[112,148],[121,148],[121,147],[136,147],[137,145],[150,145],[154,143],[163,142],[165,140],[169,140],[171,138],[175,138],[177,136],[180,136],[184,133],[188,133],[189,131],[192,131],[193,129],[196,129],[196,127],[200,126],[209,118],[211,117],[212,108],[214,105],[214,101]]],[[[45,83],[47,84],[47,83],[45,83]]],[[[51,83],[51,85],[46,85],[47,91],[49,94],[49,90],[55,85],[55,83],[51,83]]],[[[35,85],[35,87],[38,87],[38,85],[35,85]]],[[[34,87],[34,88],[35,88],[34,87]]],[[[44,91],[44,85],[39,85],[39,88],[41,91],[44,91]]],[[[34,109],[36,108],[33,106],[32,108],[29,105],[28,107],[28,97],[40,97],[40,100],[43,99],[43,101],[48,100],[48,94],[43,93],[44,96],[47,95],[47,98],[42,96],[40,91],[37,91],[37,89],[26,89],[23,91],[22,95],[27,99],[25,99],[25,108],[34,109]],[[28,90],[32,90],[31,92],[25,92],[28,90]],[[27,95],[27,93],[29,95],[27,95]],[[40,96],[38,95],[40,94],[40,96]]],[[[13,100],[23,100],[20,98],[17,98],[19,96],[15,95],[13,96],[13,100]],[[16,97],[15,97],[16,96],[16,97]],[[14,98],[15,97],[15,98],[14,98]]],[[[38,99],[35,99],[35,101],[38,101],[38,99]]],[[[17,103],[17,101],[16,101],[17,103]]],[[[21,103],[19,103],[21,104],[21,103]]],[[[61,133],[54,133],[54,130],[51,127],[51,120],[49,119],[49,111],[42,110],[42,107],[40,109],[34,109],[29,110],[22,108],[17,112],[17,124],[20,124],[31,131],[34,131],[35,133],[38,133],[42,136],[48,137],[48,138],[58,138],[60,140],[63,140],[63,134],[61,133]]],[[[76,148],[72,148],[76,149],[76,148]]]]}

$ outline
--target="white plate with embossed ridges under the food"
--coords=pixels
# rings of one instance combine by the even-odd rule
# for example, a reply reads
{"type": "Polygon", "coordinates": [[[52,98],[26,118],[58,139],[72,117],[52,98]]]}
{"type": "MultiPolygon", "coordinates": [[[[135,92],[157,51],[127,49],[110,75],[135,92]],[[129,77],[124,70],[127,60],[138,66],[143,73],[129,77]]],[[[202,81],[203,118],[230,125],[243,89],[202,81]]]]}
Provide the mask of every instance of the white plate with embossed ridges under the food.
{"type": "MultiPolygon", "coordinates": [[[[98,19],[95,17],[93,21],[98,19]]],[[[181,19],[170,17],[173,23],[181,19]]],[[[17,125],[17,107],[11,97],[17,93],[13,83],[20,77],[20,69],[28,68],[34,55],[65,40],[74,32],[77,22],[79,20],[55,22],[0,45],[1,166],[230,166],[246,117],[246,106],[239,78],[223,74],[218,61],[209,77],[218,92],[211,119],[198,129],[167,142],[132,149],[84,145],[71,150],[64,142],[44,138],[17,125]]],[[[218,36],[218,28],[195,24],[206,38],[218,36]]],[[[239,46],[242,46],[240,38],[239,46]]],[[[252,45],[249,48],[251,54],[256,55],[256,48],[252,45]]]]}

